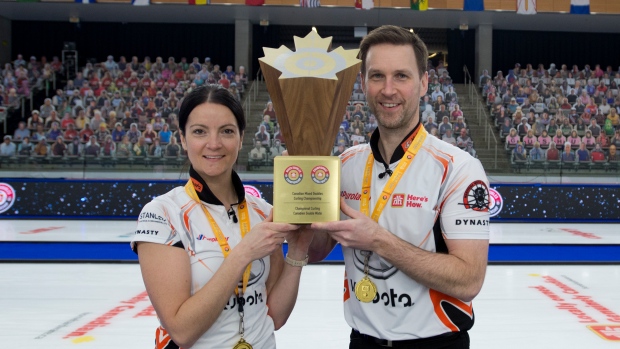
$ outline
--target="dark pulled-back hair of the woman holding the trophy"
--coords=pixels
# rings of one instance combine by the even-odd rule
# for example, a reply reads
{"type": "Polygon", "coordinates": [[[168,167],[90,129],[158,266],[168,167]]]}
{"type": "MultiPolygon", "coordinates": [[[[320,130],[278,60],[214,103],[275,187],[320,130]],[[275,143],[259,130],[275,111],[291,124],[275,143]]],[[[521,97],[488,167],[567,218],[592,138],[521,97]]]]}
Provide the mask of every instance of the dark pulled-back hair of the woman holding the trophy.
{"type": "Polygon", "coordinates": [[[223,105],[228,108],[239,125],[239,133],[245,130],[245,114],[241,103],[225,88],[217,86],[201,86],[190,92],[181,103],[179,111],[179,131],[185,135],[185,126],[189,119],[189,114],[199,105],[204,103],[213,103],[223,105]]]}

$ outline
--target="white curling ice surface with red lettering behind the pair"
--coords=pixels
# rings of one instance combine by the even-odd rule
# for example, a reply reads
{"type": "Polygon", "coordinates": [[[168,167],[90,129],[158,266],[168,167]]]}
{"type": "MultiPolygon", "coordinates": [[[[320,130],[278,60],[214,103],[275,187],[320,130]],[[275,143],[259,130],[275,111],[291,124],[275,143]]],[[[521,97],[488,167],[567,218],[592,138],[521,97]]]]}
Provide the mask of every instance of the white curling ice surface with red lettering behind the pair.
{"type": "MultiPolygon", "coordinates": [[[[1,241],[129,241],[135,222],[0,221],[1,241]]],[[[492,224],[491,242],[618,244],[618,225],[492,224]]],[[[129,246],[127,247],[129,248],[129,246]]],[[[343,265],[304,267],[278,348],[348,348],[343,265]]],[[[492,265],[475,349],[620,348],[620,265],[492,265]]],[[[153,348],[138,264],[0,263],[2,348],[153,348]]],[[[259,349],[259,348],[256,348],[259,349]]]]}

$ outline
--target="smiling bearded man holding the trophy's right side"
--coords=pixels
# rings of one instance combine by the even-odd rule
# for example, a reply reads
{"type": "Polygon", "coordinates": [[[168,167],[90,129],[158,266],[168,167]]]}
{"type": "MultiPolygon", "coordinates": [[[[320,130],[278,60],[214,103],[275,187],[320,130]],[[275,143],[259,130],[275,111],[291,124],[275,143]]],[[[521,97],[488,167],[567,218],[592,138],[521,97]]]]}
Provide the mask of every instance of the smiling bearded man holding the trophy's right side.
{"type": "Polygon", "coordinates": [[[400,27],[362,40],[362,86],[379,126],[369,145],[343,154],[343,220],[312,224],[325,233],[315,233],[311,261],[343,246],[351,349],[469,347],[471,301],[486,272],[488,181],[478,160],[420,123],[427,55],[400,27]]]}

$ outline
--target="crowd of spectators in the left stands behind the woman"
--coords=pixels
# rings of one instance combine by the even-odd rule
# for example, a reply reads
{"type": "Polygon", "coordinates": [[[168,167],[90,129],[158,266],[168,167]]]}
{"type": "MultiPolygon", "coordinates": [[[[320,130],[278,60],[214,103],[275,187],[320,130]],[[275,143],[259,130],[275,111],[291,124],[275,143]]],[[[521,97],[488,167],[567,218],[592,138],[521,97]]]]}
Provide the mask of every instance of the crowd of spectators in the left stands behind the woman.
{"type": "MultiPolygon", "coordinates": [[[[18,67],[23,66],[20,58],[18,67]]],[[[166,62],[145,57],[140,62],[132,57],[128,62],[108,56],[105,62],[86,64],[75,79],[45,99],[13,136],[4,137],[0,155],[182,156],[177,119],[182,98],[198,86],[217,84],[241,99],[246,83],[244,67],[221,71],[209,57],[201,63],[196,57],[191,62],[174,57],[166,62]]]]}

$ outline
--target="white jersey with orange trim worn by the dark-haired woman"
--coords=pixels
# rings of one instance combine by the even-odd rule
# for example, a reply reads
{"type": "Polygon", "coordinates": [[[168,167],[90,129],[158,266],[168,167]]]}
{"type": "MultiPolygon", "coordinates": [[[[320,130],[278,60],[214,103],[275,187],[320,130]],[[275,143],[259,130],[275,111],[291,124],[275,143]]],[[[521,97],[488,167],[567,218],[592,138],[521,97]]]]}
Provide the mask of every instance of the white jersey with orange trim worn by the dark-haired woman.
{"type": "MultiPolygon", "coordinates": [[[[245,199],[249,205],[251,226],[262,222],[271,211],[271,205],[262,199],[251,195],[246,195],[245,199]]],[[[205,202],[202,204],[209,210],[228,244],[234,249],[241,241],[239,223],[234,223],[229,218],[224,206],[205,202]]],[[[234,206],[234,209],[237,210],[237,207],[234,206]]],[[[238,215],[238,212],[235,213],[238,215]]],[[[131,242],[134,250],[138,241],[183,247],[190,259],[192,295],[213,277],[224,261],[209,221],[198,203],[187,195],[183,187],[177,187],[144,206],[131,242]]],[[[273,320],[267,315],[266,281],[269,270],[269,256],[254,261],[244,294],[245,339],[255,348],[275,348],[273,320]]],[[[192,348],[230,349],[239,338],[237,300],[235,294],[231,293],[228,304],[216,322],[192,348]]]]}

